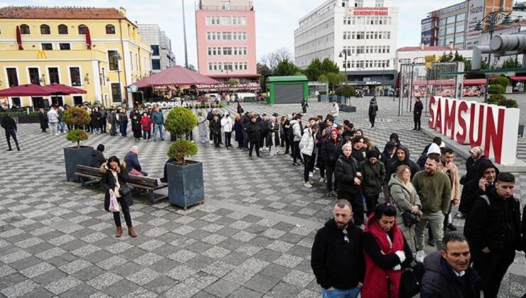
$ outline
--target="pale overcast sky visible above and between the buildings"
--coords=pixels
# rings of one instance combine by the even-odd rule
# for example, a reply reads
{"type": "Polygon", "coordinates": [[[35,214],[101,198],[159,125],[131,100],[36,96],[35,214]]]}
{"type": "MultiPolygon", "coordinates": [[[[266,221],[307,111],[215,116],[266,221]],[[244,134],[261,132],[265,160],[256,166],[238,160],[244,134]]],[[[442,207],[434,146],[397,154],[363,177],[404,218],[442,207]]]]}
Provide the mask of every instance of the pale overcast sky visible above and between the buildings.
{"type": "MultiPolygon", "coordinates": [[[[462,0],[397,0],[398,48],[420,43],[420,20],[426,13],[461,2],[462,0]]],[[[294,53],[294,29],[298,20],[316,8],[323,0],[254,0],[256,11],[257,57],[278,48],[289,48],[294,53]]],[[[0,6],[123,6],[127,16],[139,23],[157,23],[172,40],[178,65],[184,64],[183,14],[180,0],[0,0],[0,6]],[[154,5],[152,5],[154,4],[154,5]]],[[[197,65],[195,45],[195,1],[185,0],[188,61],[197,65]]]]}

